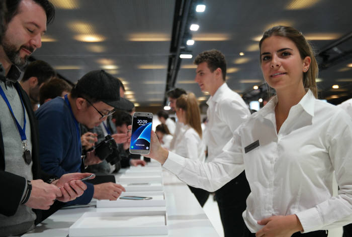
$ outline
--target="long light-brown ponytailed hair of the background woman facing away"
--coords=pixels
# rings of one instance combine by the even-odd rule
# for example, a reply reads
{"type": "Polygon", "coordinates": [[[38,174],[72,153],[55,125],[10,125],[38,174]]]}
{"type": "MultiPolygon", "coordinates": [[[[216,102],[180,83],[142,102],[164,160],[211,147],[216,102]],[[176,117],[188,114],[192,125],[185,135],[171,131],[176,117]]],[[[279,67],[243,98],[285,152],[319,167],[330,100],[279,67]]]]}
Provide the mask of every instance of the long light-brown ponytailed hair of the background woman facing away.
{"type": "Polygon", "coordinates": [[[191,126],[202,138],[201,112],[198,106],[197,98],[194,93],[181,95],[176,100],[177,109],[182,108],[186,112],[186,125],[191,126]]]}

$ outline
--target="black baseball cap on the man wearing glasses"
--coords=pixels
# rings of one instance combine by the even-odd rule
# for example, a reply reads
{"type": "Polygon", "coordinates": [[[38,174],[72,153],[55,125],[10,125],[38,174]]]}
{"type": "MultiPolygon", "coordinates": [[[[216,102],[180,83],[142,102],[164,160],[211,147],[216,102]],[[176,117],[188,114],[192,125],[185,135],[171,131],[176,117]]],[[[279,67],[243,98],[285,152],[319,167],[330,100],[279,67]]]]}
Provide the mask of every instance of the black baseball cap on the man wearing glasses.
{"type": "Polygon", "coordinates": [[[120,97],[119,80],[104,70],[86,73],[74,87],[78,94],[103,101],[116,109],[131,110],[134,107],[131,101],[120,97]]]}

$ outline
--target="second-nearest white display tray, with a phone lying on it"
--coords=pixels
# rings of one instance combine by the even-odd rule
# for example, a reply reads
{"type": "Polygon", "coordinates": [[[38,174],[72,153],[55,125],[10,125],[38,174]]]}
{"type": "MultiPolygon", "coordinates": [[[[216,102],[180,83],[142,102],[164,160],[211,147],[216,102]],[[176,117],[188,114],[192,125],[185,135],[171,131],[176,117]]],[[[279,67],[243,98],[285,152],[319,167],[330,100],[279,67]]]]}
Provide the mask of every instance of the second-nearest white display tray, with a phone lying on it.
{"type": "Polygon", "coordinates": [[[130,199],[118,198],[116,201],[97,200],[97,208],[166,206],[164,192],[123,192],[120,197],[124,197],[124,196],[151,197],[152,199],[130,200],[130,199]]]}

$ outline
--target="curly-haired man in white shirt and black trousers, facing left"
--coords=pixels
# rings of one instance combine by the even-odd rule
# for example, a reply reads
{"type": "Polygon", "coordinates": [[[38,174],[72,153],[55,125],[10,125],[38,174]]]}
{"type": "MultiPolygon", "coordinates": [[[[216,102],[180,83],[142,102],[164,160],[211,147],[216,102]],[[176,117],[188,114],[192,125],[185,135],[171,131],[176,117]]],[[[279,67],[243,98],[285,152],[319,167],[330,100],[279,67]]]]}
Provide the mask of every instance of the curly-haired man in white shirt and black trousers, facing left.
{"type": "MultiPolygon", "coordinates": [[[[211,95],[207,101],[209,122],[205,137],[210,162],[222,152],[233,132],[246,120],[250,112],[241,96],[226,84],[226,61],[220,51],[202,52],[194,63],[197,65],[195,81],[203,92],[207,91],[211,95]]],[[[216,191],[225,237],[242,236],[242,212],[246,208],[245,200],[249,193],[250,188],[244,171],[216,191]]]]}

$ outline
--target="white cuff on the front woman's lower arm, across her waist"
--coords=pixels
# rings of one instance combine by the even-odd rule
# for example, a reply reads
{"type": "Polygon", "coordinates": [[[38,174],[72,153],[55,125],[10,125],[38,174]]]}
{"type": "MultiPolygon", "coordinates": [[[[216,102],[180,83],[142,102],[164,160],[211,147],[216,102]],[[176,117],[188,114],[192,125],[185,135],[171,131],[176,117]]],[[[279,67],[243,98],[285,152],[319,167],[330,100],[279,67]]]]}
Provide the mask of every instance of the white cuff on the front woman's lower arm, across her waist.
{"type": "Polygon", "coordinates": [[[315,207],[296,213],[296,215],[302,224],[302,233],[319,230],[323,227],[323,221],[315,207]]]}

